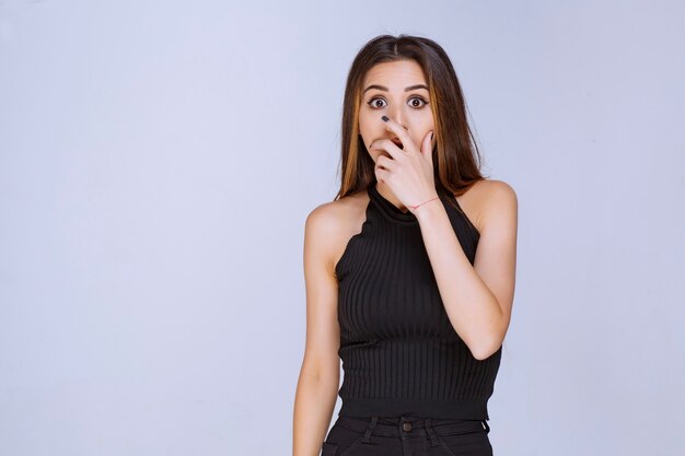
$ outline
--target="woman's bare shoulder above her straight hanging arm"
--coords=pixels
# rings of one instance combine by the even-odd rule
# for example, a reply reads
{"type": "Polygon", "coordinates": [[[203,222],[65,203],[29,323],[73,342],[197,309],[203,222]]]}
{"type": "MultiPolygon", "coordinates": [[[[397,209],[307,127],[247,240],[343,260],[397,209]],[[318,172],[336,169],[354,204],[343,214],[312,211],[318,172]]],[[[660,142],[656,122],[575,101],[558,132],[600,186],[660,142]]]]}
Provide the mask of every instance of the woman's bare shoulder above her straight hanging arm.
{"type": "Polygon", "coordinates": [[[335,270],[345,246],[363,223],[369,196],[358,191],[314,208],[306,218],[305,238],[324,255],[330,271],[335,270]]]}

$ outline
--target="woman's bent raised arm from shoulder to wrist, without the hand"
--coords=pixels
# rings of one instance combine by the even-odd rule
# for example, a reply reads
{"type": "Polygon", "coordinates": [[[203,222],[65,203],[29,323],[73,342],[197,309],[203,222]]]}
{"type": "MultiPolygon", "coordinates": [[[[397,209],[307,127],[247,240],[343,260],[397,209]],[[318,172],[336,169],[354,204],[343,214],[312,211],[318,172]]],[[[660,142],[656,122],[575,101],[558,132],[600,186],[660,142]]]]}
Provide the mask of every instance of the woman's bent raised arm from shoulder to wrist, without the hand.
{"type": "Polygon", "coordinates": [[[485,187],[478,196],[480,238],[473,267],[442,204],[425,204],[416,217],[450,321],[472,354],[485,360],[501,347],[511,320],[518,200],[501,180],[476,185],[485,187]]]}

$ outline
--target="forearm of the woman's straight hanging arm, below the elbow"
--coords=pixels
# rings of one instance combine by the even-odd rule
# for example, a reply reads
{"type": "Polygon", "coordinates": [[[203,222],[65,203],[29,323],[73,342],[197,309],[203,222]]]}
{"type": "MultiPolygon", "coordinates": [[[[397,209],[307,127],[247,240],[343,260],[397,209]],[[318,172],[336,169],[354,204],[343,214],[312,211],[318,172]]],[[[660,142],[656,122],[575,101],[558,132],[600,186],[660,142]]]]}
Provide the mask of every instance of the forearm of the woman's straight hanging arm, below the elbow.
{"type": "Polygon", "coordinates": [[[337,378],[300,374],[293,412],[293,456],[318,456],[335,408],[337,378]]]}

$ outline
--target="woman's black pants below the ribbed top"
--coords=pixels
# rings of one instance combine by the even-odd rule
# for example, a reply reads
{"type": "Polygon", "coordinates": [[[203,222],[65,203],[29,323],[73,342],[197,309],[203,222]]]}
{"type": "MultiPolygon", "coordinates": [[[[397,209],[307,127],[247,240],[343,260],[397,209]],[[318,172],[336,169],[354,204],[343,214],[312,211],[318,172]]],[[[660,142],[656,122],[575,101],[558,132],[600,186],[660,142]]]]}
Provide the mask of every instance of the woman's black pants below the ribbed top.
{"type": "Polygon", "coordinates": [[[492,456],[486,420],[338,417],[322,456],[492,456]]]}

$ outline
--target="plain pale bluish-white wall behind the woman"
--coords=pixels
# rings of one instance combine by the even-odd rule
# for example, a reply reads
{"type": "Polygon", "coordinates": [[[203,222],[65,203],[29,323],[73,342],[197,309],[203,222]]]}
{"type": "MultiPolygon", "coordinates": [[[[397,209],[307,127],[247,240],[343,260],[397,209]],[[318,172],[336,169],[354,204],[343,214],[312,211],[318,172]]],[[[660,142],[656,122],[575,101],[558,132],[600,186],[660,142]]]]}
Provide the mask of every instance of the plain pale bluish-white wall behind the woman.
{"type": "Polygon", "coordinates": [[[0,456],[290,454],[304,220],[381,33],[445,48],[519,196],[496,454],[683,454],[684,15],[0,2],[0,456]]]}

